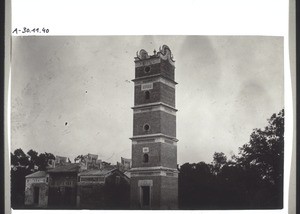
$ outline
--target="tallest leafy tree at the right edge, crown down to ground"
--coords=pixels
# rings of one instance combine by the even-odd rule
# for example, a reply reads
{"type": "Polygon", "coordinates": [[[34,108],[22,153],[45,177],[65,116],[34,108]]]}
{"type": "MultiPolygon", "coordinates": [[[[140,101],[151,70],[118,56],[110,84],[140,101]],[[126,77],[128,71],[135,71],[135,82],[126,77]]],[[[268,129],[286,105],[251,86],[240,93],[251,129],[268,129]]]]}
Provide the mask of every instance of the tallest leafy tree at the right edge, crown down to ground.
{"type": "Polygon", "coordinates": [[[268,119],[264,129],[254,129],[240,148],[236,162],[247,175],[252,205],[280,208],[283,205],[284,109],[268,119]]]}

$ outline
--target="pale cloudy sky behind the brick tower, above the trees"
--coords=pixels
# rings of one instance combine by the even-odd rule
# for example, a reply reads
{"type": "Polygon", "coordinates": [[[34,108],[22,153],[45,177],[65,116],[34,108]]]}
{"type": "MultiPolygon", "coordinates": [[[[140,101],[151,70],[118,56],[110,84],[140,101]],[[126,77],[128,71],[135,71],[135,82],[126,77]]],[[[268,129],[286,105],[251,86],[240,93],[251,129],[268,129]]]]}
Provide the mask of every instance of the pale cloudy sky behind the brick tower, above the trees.
{"type": "Polygon", "coordinates": [[[134,57],[175,59],[178,164],[228,158],[284,108],[283,37],[12,38],[11,151],[131,157],[134,57]]]}

